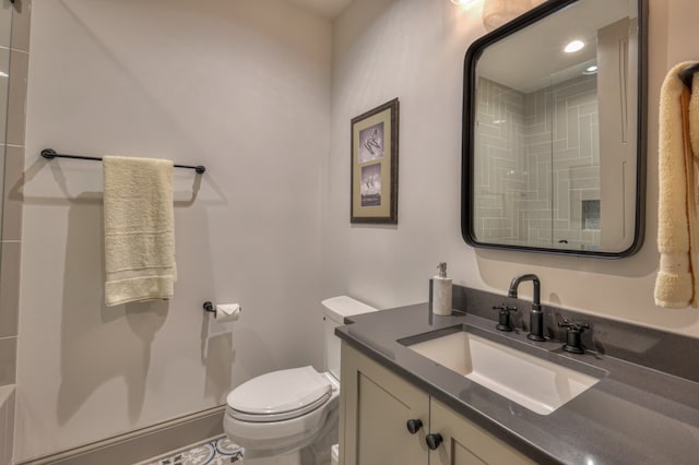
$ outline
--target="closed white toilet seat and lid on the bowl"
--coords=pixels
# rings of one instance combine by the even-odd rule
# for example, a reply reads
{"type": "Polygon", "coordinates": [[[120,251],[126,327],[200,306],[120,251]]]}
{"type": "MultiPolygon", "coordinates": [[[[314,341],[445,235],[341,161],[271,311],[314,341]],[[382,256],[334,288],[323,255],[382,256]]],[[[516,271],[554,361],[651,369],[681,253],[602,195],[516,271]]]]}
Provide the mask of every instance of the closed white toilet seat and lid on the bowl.
{"type": "Polygon", "coordinates": [[[253,378],[233,390],[226,401],[235,419],[272,422],[306,415],[328,402],[331,394],[328,378],[308,366],[253,378]]]}

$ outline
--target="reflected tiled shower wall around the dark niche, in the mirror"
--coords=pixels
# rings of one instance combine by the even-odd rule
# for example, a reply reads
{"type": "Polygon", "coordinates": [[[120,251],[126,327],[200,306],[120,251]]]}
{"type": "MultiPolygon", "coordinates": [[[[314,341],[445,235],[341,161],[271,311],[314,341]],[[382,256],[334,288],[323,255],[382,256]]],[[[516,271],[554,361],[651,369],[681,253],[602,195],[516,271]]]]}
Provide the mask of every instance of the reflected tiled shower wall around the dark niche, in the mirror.
{"type": "Polygon", "coordinates": [[[525,97],[528,192],[538,192],[522,205],[529,243],[600,243],[600,230],[584,229],[582,218],[582,201],[600,199],[596,82],[595,75],[582,75],[525,97]]]}

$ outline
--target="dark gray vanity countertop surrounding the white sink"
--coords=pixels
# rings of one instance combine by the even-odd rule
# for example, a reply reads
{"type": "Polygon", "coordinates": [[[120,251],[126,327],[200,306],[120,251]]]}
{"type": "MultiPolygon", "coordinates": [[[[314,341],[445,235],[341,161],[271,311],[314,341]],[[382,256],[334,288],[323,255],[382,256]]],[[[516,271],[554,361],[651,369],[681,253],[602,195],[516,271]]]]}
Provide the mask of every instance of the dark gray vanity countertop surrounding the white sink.
{"type": "MultiPolygon", "coordinates": [[[[560,342],[531,342],[524,332],[497,331],[491,320],[474,314],[433,315],[427,303],[352,317],[348,323],[335,330],[340,338],[537,463],[699,463],[695,381],[609,356],[568,354],[560,342]],[[464,324],[477,335],[602,380],[550,415],[538,415],[399,343],[464,324]]],[[[695,363],[699,367],[699,359],[695,363]]]]}

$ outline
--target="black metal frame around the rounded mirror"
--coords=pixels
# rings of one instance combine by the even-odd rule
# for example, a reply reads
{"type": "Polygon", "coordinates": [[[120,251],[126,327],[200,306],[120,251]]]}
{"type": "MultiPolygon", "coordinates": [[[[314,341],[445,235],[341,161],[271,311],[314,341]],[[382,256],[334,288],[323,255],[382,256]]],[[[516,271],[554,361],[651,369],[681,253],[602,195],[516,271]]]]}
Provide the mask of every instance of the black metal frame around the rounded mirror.
{"type": "Polygon", "coordinates": [[[475,122],[475,83],[476,62],[484,49],[538,20],[558,10],[577,3],[580,0],[548,0],[530,10],[521,16],[498,27],[475,40],[466,51],[464,60],[463,85],[463,128],[462,128],[462,178],[461,178],[461,233],[467,245],[474,248],[516,250],[524,252],[540,252],[571,257],[592,257],[602,259],[621,259],[638,252],[643,245],[645,225],[645,128],[647,128],[647,79],[648,79],[648,0],[637,0],[639,26],[638,56],[638,121],[637,121],[637,169],[636,169],[636,219],[635,235],[631,246],[620,252],[602,252],[590,250],[562,250],[542,247],[508,246],[479,242],[474,234],[473,213],[473,156],[474,153],[474,122],[475,122]]]}

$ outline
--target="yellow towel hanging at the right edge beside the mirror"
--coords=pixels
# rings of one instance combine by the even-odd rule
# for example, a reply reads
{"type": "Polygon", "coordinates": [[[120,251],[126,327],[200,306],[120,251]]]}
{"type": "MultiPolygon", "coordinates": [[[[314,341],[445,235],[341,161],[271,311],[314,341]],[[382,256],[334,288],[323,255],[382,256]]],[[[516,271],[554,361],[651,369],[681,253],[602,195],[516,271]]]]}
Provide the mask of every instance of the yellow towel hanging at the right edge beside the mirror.
{"type": "MultiPolygon", "coordinates": [[[[684,62],[667,73],[661,88],[659,142],[657,249],[660,271],[655,279],[655,305],[665,308],[697,306],[697,158],[691,147],[690,95],[679,79],[684,62]]],[[[698,82],[699,84],[699,82],[698,82]]],[[[691,96],[696,100],[699,85],[691,96]]],[[[699,123],[696,123],[699,127],[699,123]]],[[[699,130],[699,128],[697,129],[699,130]]],[[[697,131],[695,130],[695,131],[697,131]]]]}

